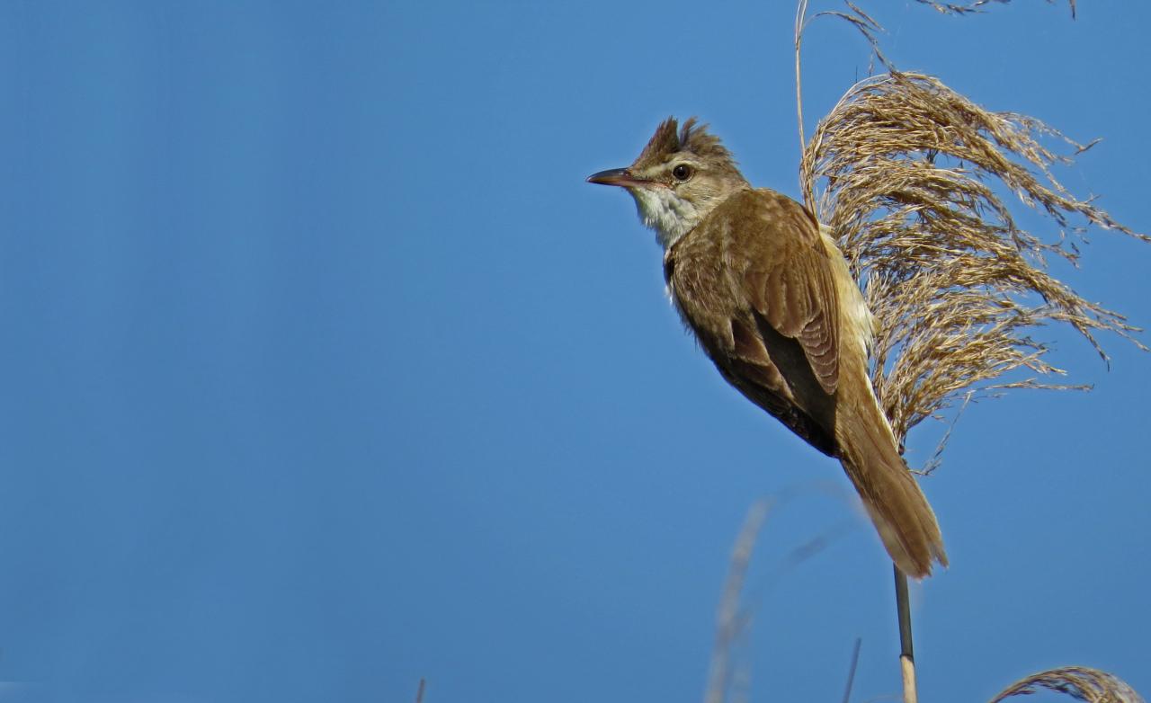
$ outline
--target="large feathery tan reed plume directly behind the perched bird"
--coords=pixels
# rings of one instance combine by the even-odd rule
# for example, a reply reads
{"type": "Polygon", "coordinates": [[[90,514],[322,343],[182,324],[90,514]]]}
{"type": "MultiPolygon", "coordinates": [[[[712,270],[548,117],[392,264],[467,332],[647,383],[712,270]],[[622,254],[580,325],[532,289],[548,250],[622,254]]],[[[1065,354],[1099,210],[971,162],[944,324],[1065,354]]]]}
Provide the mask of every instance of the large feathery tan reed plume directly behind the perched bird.
{"type": "Polygon", "coordinates": [[[970,390],[1083,388],[1052,383],[1062,369],[1030,336],[1065,322],[1106,360],[1096,339],[1131,339],[1126,319],[1047,273],[1045,257],[1075,262],[1072,220],[1137,237],[1051,173],[1067,162],[1044,146],[1038,120],[984,109],[932,76],[887,74],[855,84],[817,125],[800,165],[820,221],[866,281],[878,331],[872,382],[897,437],[970,390]],[[1022,229],[993,182],[1050,216],[1044,240],[1022,229]],[[817,192],[817,188],[820,189],[817,192]],[[1017,369],[1032,377],[1004,383],[1017,369]]]}

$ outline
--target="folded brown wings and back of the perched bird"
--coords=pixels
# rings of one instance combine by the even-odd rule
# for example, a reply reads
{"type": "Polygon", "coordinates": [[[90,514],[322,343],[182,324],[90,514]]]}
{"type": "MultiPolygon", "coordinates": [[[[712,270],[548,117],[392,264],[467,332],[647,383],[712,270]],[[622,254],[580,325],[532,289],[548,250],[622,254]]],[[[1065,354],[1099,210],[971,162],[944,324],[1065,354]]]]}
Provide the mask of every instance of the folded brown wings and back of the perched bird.
{"type": "Polygon", "coordinates": [[[668,276],[724,377],[833,453],[839,301],[814,217],[772,191],[732,196],[676,243],[668,276]]]}

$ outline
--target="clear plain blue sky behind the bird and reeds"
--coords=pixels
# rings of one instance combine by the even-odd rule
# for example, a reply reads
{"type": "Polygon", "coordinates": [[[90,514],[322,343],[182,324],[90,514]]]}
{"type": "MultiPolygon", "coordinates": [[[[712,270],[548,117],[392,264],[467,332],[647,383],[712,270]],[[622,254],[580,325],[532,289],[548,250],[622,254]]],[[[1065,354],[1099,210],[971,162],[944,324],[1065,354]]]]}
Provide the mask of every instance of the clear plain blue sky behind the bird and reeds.
{"type": "MultiPolygon", "coordinates": [[[[1104,137],[1060,177],[1151,230],[1145,3],[867,7],[900,66],[1104,137]]],[[[792,18],[0,6],[0,701],[699,701],[732,541],[785,490],[752,700],[838,700],[856,636],[855,700],[894,695],[838,466],[724,385],[630,199],[584,183],[699,114],[798,194],[792,18]]],[[[806,61],[814,124],[868,54],[822,21],[806,61]]],[[[1149,267],[1096,234],[1059,273],[1148,326],[1149,267]]],[[[1041,336],[1096,389],[969,408],[925,481],[924,700],[1072,663],[1151,691],[1151,356],[1041,336]]]]}

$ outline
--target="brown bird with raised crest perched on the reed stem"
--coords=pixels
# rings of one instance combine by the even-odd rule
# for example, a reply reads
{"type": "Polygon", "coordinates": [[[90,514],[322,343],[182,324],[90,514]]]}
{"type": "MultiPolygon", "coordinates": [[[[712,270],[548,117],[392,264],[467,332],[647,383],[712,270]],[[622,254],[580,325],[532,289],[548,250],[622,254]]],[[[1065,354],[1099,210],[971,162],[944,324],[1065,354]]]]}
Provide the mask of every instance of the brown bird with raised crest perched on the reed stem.
{"type": "Polygon", "coordinates": [[[895,566],[916,579],[946,567],[868,375],[875,316],[815,215],[753,188],[695,117],[669,117],[631,166],[587,181],[631,193],[685,327],[727,383],[840,461],[895,566]]]}

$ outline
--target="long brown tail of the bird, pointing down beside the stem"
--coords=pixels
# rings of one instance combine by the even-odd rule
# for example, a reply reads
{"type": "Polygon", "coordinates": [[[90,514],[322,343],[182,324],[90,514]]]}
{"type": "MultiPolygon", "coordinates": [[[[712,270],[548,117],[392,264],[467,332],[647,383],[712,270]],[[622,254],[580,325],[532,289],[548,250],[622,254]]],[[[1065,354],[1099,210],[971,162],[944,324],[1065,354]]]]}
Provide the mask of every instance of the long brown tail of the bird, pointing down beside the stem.
{"type": "Polygon", "coordinates": [[[874,396],[848,406],[854,406],[854,417],[837,418],[839,460],[895,566],[908,576],[929,576],[933,561],[947,566],[935,512],[899,454],[874,396]]]}

